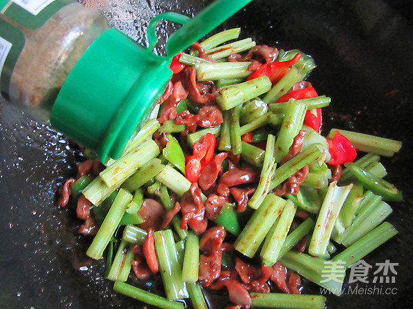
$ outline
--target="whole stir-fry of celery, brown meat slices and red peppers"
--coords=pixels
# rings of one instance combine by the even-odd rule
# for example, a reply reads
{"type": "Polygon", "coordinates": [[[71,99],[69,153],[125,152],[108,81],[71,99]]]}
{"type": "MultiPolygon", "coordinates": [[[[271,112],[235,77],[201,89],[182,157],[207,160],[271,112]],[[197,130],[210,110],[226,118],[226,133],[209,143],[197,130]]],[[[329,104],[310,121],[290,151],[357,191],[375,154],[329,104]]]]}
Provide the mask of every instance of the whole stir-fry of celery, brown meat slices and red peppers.
{"type": "Polygon", "coordinates": [[[118,160],[82,148],[59,206],[76,205],[86,254],[118,293],[161,308],[208,308],[204,293],[228,295],[226,308],[324,308],[301,277],[340,295],[346,269],[397,233],[383,221],[403,196],[380,156],[401,143],[322,136],[330,98],[306,81],[313,58],[239,36],[176,55],[158,115],[118,160]],[[160,277],[165,293],[130,276],[160,277]]]}

